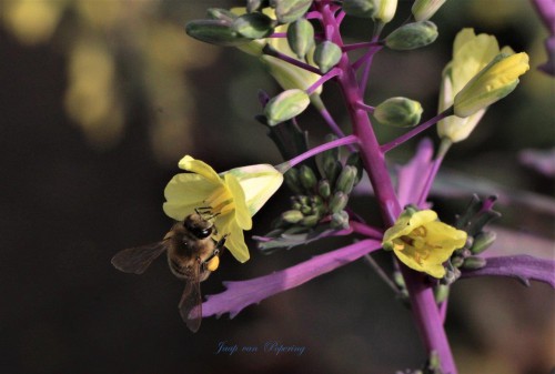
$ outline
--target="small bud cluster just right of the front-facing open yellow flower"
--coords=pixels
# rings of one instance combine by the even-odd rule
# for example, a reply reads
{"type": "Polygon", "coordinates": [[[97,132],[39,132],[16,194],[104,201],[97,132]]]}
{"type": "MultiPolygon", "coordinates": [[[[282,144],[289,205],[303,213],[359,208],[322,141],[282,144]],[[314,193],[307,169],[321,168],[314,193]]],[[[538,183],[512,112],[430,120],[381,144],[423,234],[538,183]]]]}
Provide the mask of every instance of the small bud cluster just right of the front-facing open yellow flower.
{"type": "Polygon", "coordinates": [[[495,196],[490,196],[482,201],[477,195],[473,195],[465,212],[457,215],[455,226],[466,231],[468,236],[466,244],[451,256],[451,266],[444,277],[446,284],[460,277],[460,269],[477,270],[486,265],[486,259],[478,254],[487,250],[496,239],[495,232],[484,230],[486,224],[501,216],[500,212],[493,210],[495,200],[495,196]]]}

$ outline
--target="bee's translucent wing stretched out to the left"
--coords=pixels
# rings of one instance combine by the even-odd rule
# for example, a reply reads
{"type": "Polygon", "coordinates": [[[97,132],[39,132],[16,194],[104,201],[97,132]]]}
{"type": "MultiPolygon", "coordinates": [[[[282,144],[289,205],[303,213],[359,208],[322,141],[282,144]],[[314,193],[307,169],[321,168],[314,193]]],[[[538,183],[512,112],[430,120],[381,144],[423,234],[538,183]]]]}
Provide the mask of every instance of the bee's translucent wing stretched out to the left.
{"type": "Polygon", "coordinates": [[[125,273],[142,274],[167,249],[167,242],[162,241],[123,250],[112,257],[112,265],[125,273]]]}

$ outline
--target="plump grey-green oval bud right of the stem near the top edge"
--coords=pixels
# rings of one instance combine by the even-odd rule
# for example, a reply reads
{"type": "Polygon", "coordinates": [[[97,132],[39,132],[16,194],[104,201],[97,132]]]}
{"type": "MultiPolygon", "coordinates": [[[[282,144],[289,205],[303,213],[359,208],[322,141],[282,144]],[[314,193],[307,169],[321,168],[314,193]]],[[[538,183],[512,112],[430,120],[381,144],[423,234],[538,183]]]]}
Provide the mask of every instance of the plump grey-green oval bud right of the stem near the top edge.
{"type": "Polygon", "coordinates": [[[406,23],[385,38],[385,46],[393,50],[407,51],[433,43],[437,34],[437,27],[432,21],[406,23]]]}

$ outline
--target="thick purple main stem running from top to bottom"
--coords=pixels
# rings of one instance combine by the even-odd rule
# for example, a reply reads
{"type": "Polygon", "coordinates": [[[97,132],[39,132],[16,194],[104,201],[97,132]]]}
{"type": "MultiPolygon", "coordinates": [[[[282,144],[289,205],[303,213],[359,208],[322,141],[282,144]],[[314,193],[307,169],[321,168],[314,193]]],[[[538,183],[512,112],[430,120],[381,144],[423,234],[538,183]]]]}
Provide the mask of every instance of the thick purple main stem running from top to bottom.
{"type": "MultiPolygon", "coordinates": [[[[343,46],[339,24],[329,7],[317,2],[315,6],[322,13],[322,22],[330,40],[343,46]]],[[[387,172],[384,151],[380,148],[367,113],[359,107],[359,103],[363,102],[362,90],[356,81],[355,68],[351,67],[346,52],[343,53],[337,67],[343,70],[337,81],[353,124],[353,133],[360,139],[361,158],[379,201],[384,223],[386,226],[392,226],[401,213],[401,206],[387,172]]],[[[425,274],[412,271],[403,264],[401,269],[411,297],[412,312],[428,354],[432,352],[437,354],[443,373],[456,374],[443,321],[425,274]]]]}

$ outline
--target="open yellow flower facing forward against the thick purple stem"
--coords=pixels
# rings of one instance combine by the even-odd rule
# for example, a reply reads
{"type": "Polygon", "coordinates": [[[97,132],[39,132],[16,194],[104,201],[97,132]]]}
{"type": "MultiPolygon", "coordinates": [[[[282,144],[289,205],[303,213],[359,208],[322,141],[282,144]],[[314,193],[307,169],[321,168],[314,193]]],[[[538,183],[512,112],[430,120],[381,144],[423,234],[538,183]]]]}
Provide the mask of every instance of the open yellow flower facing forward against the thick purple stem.
{"type": "Polygon", "coordinates": [[[465,242],[466,232],[437,221],[434,211],[407,209],[385,231],[382,245],[408,267],[441,279],[443,263],[465,242]]]}

